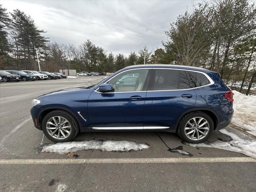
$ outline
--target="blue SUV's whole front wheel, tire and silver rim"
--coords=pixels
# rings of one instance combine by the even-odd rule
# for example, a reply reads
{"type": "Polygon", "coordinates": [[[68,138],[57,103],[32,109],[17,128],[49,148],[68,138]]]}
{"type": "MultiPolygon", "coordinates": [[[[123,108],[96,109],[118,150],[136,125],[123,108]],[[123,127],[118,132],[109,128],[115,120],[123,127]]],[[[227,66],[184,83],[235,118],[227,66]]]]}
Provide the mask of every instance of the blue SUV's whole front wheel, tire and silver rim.
{"type": "Polygon", "coordinates": [[[55,110],[43,118],[42,130],[46,137],[54,142],[67,142],[78,134],[79,127],[71,114],[55,110]]]}

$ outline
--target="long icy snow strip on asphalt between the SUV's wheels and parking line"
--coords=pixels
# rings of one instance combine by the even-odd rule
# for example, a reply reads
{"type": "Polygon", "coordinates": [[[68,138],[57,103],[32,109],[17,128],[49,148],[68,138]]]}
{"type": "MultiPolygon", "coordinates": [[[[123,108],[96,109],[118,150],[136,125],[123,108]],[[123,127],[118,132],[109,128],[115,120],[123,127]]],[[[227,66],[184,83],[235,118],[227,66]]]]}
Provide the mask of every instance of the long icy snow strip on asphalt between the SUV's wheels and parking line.
{"type": "Polygon", "coordinates": [[[42,148],[42,152],[55,152],[65,154],[68,152],[76,152],[79,150],[96,149],[102,151],[140,151],[149,148],[148,144],[141,144],[132,141],[73,141],[50,144],[42,148]]]}

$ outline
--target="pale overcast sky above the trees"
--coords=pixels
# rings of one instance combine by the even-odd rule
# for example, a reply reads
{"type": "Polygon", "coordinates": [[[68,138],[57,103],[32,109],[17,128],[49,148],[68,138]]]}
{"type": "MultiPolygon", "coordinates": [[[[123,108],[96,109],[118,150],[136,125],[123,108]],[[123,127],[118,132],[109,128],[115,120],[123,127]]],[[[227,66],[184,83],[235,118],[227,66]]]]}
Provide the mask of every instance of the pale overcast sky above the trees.
{"type": "Polygon", "coordinates": [[[30,15],[51,41],[81,44],[90,39],[108,53],[138,52],[162,47],[164,30],[196,0],[164,1],[11,1],[1,0],[8,12],[30,15]]]}

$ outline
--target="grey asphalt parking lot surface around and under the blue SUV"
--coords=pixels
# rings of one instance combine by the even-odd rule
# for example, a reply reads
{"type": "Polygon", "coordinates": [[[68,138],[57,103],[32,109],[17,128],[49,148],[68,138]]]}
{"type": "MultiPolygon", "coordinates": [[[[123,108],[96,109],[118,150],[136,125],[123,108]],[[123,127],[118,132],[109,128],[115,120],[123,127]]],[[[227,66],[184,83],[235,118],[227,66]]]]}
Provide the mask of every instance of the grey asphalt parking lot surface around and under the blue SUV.
{"type": "MultiPolygon", "coordinates": [[[[41,152],[42,146],[53,142],[33,126],[32,99],[53,90],[95,84],[102,78],[80,76],[0,84],[1,192],[255,190],[255,160],[227,150],[195,148],[173,133],[79,133],[74,140],[125,140],[150,147],[128,152],[41,152]]],[[[217,140],[230,137],[215,131],[208,142],[217,140]]]]}

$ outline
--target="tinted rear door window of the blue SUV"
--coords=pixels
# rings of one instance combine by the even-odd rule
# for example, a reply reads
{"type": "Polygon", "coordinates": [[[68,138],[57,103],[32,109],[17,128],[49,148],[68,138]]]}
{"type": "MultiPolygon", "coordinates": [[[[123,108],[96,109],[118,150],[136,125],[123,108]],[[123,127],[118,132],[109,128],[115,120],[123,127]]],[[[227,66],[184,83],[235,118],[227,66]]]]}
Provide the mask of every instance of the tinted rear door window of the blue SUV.
{"type": "Polygon", "coordinates": [[[153,90],[177,90],[179,70],[156,69],[153,90]]]}

